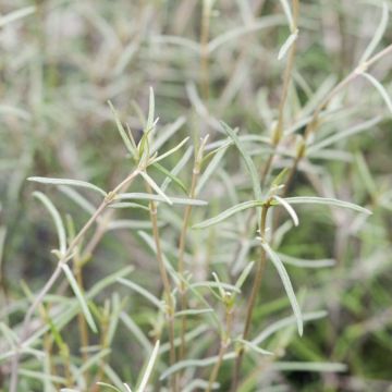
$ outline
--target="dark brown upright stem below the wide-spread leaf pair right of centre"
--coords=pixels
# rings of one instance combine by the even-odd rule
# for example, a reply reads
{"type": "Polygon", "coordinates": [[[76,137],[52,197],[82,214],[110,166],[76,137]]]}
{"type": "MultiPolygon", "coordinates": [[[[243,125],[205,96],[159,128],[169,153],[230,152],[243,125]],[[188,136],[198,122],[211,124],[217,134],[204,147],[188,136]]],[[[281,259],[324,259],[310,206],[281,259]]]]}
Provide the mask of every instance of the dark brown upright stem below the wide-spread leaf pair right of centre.
{"type": "MultiPolygon", "coordinates": [[[[261,219],[260,219],[260,236],[261,236],[261,238],[264,238],[265,235],[266,235],[266,223],[267,223],[268,209],[269,209],[269,204],[266,203],[262,206],[262,209],[261,209],[261,219]]],[[[261,278],[262,278],[262,273],[264,273],[264,270],[265,270],[266,261],[267,261],[267,254],[266,254],[265,249],[261,248],[260,259],[259,259],[259,262],[257,264],[257,270],[256,270],[256,274],[255,274],[255,280],[254,280],[254,283],[253,283],[250,297],[249,297],[248,306],[247,306],[247,309],[246,309],[245,327],[244,327],[244,331],[243,331],[243,339],[244,340],[246,340],[248,338],[248,334],[249,334],[250,324],[252,324],[252,317],[253,317],[256,299],[257,299],[257,296],[258,296],[258,293],[259,293],[259,290],[260,290],[261,278]]],[[[237,356],[236,356],[236,358],[235,358],[234,376],[233,376],[232,385],[231,385],[231,391],[232,392],[235,392],[236,389],[237,389],[237,385],[238,385],[243,356],[244,356],[244,350],[241,348],[237,356]]]]}

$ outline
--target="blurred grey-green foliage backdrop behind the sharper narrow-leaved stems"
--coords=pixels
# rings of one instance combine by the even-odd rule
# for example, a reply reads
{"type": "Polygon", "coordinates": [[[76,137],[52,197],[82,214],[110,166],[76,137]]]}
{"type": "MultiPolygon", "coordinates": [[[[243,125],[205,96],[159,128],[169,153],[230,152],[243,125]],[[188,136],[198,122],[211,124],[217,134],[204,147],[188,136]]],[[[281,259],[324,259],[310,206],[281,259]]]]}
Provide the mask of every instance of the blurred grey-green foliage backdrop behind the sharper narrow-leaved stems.
{"type": "MultiPolygon", "coordinates": [[[[203,3],[0,1],[3,321],[10,315],[11,324],[21,320],[15,310],[19,299],[25,297],[21,282],[36,291],[54,266],[50,249],[56,246],[56,233],[48,215],[30,196],[38,186],[27,183],[26,177],[78,179],[110,189],[130,170],[108,100],[137,135],[142,123],[133,102],[147,112],[148,87],[152,86],[160,128],[173,124],[181,127],[172,145],[186,135],[194,140],[207,133],[210,140],[222,138],[219,120],[238,126],[244,134],[270,137],[285,66],[278,52],[290,34],[282,3],[217,0],[208,27],[201,23],[203,3]],[[17,10],[14,20],[7,19],[17,10]],[[206,28],[207,36],[203,34],[206,28]]],[[[293,149],[294,135],[303,132],[304,119],[357,66],[380,24],[383,3],[391,10],[391,2],[381,0],[301,1],[297,53],[285,110],[285,130],[293,133],[282,143],[277,170],[291,159],[284,151],[293,149]]],[[[377,50],[388,46],[391,38],[389,23],[377,50]]],[[[369,71],[390,96],[391,63],[391,56],[384,57],[369,71]]],[[[291,194],[316,193],[352,200],[370,208],[373,215],[364,221],[344,210],[304,208],[301,226],[282,232],[279,252],[336,260],[327,269],[287,267],[297,291],[307,298],[306,306],[327,309],[329,317],[311,322],[303,339],[291,333],[282,350],[284,360],[342,362],[347,364],[347,371],[286,371],[273,380],[290,391],[388,391],[392,383],[391,113],[379,91],[360,77],[336,96],[329,109],[316,142],[354,131],[309,156],[291,194]]],[[[249,145],[258,166],[265,162],[265,152],[262,145],[249,145]]],[[[235,184],[238,198],[246,199],[248,189],[237,155],[230,150],[226,158],[224,173],[235,184]]],[[[186,183],[188,173],[181,174],[186,183]]],[[[216,212],[230,206],[224,173],[215,176],[201,195],[213,200],[216,212]]],[[[54,187],[45,187],[45,192],[59,209],[74,217],[77,225],[86,220],[87,215],[54,187]]],[[[89,198],[97,203],[94,195],[89,198]]],[[[119,211],[118,217],[126,218],[127,213],[119,211]]],[[[203,212],[198,215],[201,220],[203,212]]],[[[163,220],[168,219],[175,217],[168,213],[163,220]]],[[[162,229],[168,241],[174,236],[171,230],[170,225],[162,229]]],[[[220,254],[215,250],[211,261],[218,269],[223,269],[224,256],[232,255],[236,245],[222,236],[223,247],[220,254]]],[[[194,250],[197,262],[205,250],[194,250]]],[[[244,257],[250,259],[252,253],[244,257]]],[[[130,229],[105,236],[94,264],[86,267],[86,286],[130,262],[130,258],[137,266],[138,279],[154,290],[158,282],[154,256],[130,229]]],[[[201,261],[194,270],[200,277],[209,273],[201,261]]],[[[224,273],[230,279],[230,272],[224,273]]],[[[255,314],[260,324],[287,315],[287,301],[275,272],[269,269],[266,273],[262,304],[255,314]]],[[[143,308],[136,304],[136,309],[138,306],[143,308]]],[[[151,326],[144,311],[136,319],[148,331],[151,326]]],[[[120,331],[118,347],[124,336],[120,331]]],[[[119,375],[128,371],[123,364],[128,363],[132,350],[131,344],[112,359],[119,375]]],[[[140,366],[137,358],[130,362],[140,366]]],[[[226,366],[223,384],[230,379],[226,366]]]]}

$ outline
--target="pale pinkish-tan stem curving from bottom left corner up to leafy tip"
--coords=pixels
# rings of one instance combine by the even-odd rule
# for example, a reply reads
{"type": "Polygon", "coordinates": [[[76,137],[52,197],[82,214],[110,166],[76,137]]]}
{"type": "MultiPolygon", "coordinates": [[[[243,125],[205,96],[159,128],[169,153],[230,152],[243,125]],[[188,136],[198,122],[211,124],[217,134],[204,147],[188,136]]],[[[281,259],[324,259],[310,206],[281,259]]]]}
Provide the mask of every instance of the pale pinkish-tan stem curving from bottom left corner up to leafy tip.
{"type": "Polygon", "coordinates": [[[62,270],[62,265],[66,264],[69,261],[75,247],[79,244],[83,236],[86,234],[88,229],[96,222],[96,220],[99,218],[99,216],[102,213],[102,211],[110,205],[110,203],[112,201],[112,198],[115,196],[115,194],[118,192],[120,192],[123,187],[130,185],[138,174],[139,174],[139,169],[136,169],[124,181],[122,181],[112,192],[110,192],[108,194],[110,197],[106,197],[103,199],[103,201],[99,205],[99,207],[93,213],[90,219],[85,223],[85,225],[82,228],[82,230],[78,232],[78,234],[73,238],[73,241],[71,242],[70,246],[68,247],[65,254],[62,255],[62,257],[58,261],[58,265],[57,265],[53,273],[51,274],[51,277],[47,281],[45,286],[41,289],[41,291],[38,293],[38,295],[34,299],[33,304],[28,308],[26,316],[23,320],[21,339],[20,339],[17,346],[15,347],[15,353],[12,358],[10,392],[17,391],[17,379],[19,379],[17,368],[19,368],[19,362],[20,362],[20,357],[21,357],[21,348],[22,348],[23,343],[27,339],[28,327],[30,324],[33,316],[34,316],[37,307],[41,304],[45,296],[48,294],[48,292],[51,290],[51,287],[53,286],[53,284],[56,283],[58,278],[60,277],[61,270],[62,270]]]}

